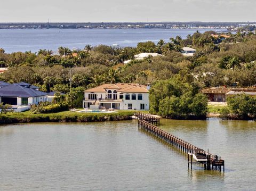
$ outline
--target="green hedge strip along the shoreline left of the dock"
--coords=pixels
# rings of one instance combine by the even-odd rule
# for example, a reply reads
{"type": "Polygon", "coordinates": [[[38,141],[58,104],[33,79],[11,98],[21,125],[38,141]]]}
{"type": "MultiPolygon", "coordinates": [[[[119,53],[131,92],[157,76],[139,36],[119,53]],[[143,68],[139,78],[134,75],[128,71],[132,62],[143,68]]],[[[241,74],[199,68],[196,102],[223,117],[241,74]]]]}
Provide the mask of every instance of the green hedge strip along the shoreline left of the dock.
{"type": "Polygon", "coordinates": [[[49,114],[6,113],[0,116],[0,124],[30,123],[30,122],[94,122],[130,120],[134,111],[118,111],[116,113],[79,113],[59,112],[49,114]]]}

